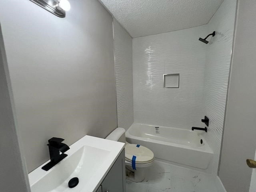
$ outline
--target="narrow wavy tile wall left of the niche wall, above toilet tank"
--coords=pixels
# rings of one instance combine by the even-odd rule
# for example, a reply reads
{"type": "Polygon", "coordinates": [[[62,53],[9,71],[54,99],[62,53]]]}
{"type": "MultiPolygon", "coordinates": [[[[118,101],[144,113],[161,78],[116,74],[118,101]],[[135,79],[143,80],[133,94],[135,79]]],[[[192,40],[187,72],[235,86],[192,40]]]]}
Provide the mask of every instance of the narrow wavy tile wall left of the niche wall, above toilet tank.
{"type": "Polygon", "coordinates": [[[133,123],[132,38],[113,18],[118,127],[133,123]]]}

